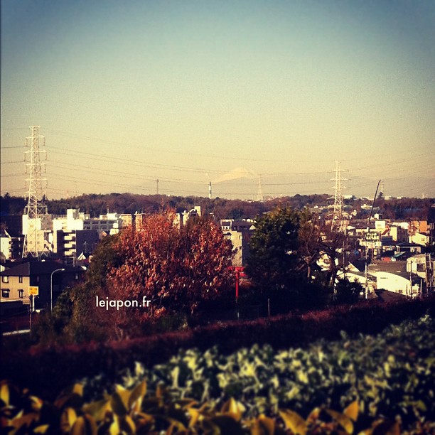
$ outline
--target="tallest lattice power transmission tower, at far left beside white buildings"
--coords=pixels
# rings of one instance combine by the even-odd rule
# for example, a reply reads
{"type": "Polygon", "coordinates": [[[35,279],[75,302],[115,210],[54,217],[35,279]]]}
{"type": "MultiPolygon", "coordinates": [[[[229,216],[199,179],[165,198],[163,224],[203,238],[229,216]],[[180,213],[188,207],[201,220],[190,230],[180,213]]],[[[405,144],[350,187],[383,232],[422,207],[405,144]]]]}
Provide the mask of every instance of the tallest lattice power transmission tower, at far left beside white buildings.
{"type": "Polygon", "coordinates": [[[45,146],[45,138],[39,134],[40,127],[34,126],[30,129],[32,135],[26,138],[26,146],[30,149],[25,151],[25,157],[30,156],[30,162],[26,163],[28,203],[23,215],[23,257],[29,254],[32,257],[40,257],[48,252],[44,231],[48,214],[43,197],[43,182],[46,178],[42,176],[45,163],[41,163],[41,155],[46,156],[46,151],[41,149],[45,146]]]}

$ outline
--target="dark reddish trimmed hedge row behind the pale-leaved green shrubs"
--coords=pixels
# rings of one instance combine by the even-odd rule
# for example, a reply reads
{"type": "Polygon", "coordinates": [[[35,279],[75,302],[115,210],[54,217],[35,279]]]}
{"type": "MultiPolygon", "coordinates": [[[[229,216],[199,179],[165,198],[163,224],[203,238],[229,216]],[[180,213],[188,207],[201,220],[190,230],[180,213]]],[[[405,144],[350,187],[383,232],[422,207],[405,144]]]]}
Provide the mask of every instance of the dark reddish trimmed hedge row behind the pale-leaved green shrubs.
{"type": "Polygon", "coordinates": [[[318,338],[340,338],[340,331],[374,334],[390,324],[435,316],[435,298],[394,303],[365,301],[355,306],[338,306],[325,311],[288,314],[255,321],[215,323],[187,331],[152,335],[134,340],[89,343],[52,348],[32,348],[1,358],[1,377],[18,387],[53,399],[60,390],[81,377],[104,372],[116,377],[120,370],[141,361],[146,367],[163,363],[178,350],[206,350],[218,345],[227,354],[255,343],[274,348],[302,346],[318,338]]]}

